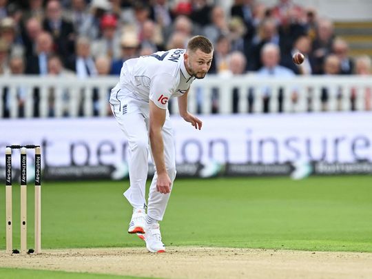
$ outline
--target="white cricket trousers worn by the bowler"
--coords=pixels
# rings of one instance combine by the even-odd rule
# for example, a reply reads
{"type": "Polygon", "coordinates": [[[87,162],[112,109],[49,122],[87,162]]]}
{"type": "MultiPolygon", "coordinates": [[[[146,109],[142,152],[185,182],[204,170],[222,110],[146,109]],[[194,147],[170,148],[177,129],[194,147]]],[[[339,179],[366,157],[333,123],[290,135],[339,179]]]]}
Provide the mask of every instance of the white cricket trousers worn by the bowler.
{"type": "MultiPolygon", "coordinates": [[[[149,145],[149,103],[134,99],[129,93],[117,87],[112,90],[110,96],[112,112],[121,130],[124,132],[129,146],[129,174],[130,187],[124,192],[125,198],[132,207],[143,208],[146,205],[145,186],[147,180],[148,159],[151,147],[149,145]]],[[[165,167],[169,178],[176,178],[176,161],[173,141],[173,129],[169,118],[169,112],[163,125],[163,142],[165,167]]],[[[152,155],[152,154],[151,154],[152,155]]],[[[155,220],[163,220],[165,209],[169,200],[169,194],[161,194],[156,191],[154,174],[149,188],[147,203],[147,215],[155,220]]],[[[172,188],[171,188],[172,191],[172,188]]]]}

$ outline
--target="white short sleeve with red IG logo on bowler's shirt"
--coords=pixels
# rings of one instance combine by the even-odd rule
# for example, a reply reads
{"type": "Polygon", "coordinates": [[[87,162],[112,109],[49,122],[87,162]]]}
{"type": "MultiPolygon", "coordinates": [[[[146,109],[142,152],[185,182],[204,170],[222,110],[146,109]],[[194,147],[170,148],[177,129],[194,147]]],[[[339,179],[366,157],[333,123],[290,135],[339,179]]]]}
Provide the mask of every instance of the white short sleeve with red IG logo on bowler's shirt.
{"type": "Polygon", "coordinates": [[[168,100],[175,89],[173,76],[170,74],[158,74],[154,76],[151,81],[149,99],[153,101],[157,107],[165,110],[168,107],[168,100]]]}

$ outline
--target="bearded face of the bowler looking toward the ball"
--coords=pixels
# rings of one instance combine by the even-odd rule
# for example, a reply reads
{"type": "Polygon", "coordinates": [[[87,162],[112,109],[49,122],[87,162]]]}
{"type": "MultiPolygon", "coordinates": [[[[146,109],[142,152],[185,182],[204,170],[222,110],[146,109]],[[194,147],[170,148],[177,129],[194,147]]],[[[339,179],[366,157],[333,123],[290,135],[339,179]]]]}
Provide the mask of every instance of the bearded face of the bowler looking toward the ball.
{"type": "Polygon", "coordinates": [[[185,66],[187,72],[196,79],[203,79],[207,74],[209,68],[211,68],[211,61],[213,58],[213,52],[205,53],[201,50],[196,52],[189,52],[185,54],[185,66]]]}

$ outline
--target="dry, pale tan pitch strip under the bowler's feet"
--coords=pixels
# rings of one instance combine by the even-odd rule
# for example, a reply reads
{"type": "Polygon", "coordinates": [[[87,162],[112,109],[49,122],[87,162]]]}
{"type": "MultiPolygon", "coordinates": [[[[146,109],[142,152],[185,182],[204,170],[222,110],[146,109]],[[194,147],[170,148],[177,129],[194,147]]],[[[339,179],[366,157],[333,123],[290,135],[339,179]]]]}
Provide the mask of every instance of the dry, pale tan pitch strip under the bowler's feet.
{"type": "Polygon", "coordinates": [[[158,278],[371,278],[372,254],[211,247],[168,247],[163,254],[145,248],[1,251],[0,267],[158,278]]]}

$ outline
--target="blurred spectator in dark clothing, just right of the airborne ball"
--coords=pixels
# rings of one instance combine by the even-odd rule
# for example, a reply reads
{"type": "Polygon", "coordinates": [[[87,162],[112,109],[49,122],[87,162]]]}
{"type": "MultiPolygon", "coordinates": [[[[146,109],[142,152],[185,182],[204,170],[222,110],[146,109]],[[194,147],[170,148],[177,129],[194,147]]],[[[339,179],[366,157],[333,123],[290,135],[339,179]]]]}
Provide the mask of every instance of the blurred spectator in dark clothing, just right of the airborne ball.
{"type": "Polygon", "coordinates": [[[314,74],[322,74],[324,57],[331,53],[332,49],[333,23],[329,19],[320,19],[317,27],[316,39],[312,45],[314,74]]]}

